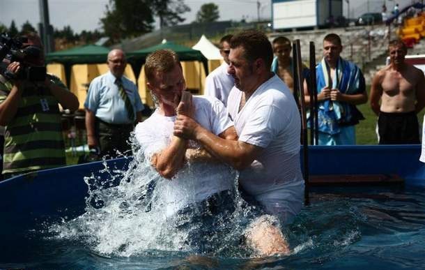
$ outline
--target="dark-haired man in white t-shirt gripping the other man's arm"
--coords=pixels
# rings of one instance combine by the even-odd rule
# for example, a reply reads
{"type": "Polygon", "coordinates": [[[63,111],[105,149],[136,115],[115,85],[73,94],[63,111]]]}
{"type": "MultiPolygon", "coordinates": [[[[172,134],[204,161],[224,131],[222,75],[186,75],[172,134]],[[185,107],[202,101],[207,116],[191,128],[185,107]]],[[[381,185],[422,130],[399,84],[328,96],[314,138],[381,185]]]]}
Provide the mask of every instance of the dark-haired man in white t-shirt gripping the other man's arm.
{"type": "MultiPolygon", "coordinates": [[[[266,213],[291,223],[303,202],[300,114],[286,84],[270,71],[273,51],[258,31],[231,39],[229,73],[235,78],[227,102],[238,140],[223,140],[196,120],[178,115],[174,135],[199,142],[212,156],[240,171],[243,190],[266,213]]],[[[270,218],[259,218],[246,234],[261,255],[286,254],[288,244],[270,218]]]]}

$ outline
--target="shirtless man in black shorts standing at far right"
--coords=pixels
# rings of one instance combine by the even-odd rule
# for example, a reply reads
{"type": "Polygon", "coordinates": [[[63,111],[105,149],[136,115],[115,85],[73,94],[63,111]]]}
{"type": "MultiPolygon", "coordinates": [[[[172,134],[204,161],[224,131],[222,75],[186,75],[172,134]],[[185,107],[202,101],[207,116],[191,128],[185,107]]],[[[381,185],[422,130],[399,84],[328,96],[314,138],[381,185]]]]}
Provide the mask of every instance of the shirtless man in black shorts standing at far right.
{"type": "Polygon", "coordinates": [[[376,73],[371,85],[371,108],[378,115],[378,141],[419,144],[417,113],[425,106],[424,73],[405,63],[407,47],[401,40],[391,41],[388,48],[390,63],[376,73]]]}

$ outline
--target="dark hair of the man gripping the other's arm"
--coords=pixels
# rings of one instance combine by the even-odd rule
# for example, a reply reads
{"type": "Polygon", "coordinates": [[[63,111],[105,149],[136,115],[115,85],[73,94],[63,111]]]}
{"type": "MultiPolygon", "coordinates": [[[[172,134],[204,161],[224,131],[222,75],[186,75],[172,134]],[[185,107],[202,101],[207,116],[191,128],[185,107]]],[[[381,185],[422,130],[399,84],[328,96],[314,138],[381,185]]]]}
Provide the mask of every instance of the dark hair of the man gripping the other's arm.
{"type": "Polygon", "coordinates": [[[230,43],[231,49],[242,47],[244,57],[250,63],[256,59],[263,59],[265,68],[270,70],[273,60],[272,44],[264,33],[256,30],[246,30],[233,36],[230,43]]]}

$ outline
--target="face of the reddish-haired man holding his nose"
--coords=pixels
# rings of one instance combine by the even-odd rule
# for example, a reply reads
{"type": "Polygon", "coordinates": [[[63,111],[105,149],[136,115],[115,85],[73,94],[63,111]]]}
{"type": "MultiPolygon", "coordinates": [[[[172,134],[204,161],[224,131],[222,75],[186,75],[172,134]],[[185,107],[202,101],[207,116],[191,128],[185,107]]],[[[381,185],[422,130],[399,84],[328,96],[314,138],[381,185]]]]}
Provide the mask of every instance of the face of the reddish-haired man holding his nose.
{"type": "Polygon", "coordinates": [[[167,73],[157,71],[153,81],[148,82],[148,87],[157,96],[160,103],[177,107],[182,92],[186,89],[182,68],[176,64],[173,70],[167,73]]]}

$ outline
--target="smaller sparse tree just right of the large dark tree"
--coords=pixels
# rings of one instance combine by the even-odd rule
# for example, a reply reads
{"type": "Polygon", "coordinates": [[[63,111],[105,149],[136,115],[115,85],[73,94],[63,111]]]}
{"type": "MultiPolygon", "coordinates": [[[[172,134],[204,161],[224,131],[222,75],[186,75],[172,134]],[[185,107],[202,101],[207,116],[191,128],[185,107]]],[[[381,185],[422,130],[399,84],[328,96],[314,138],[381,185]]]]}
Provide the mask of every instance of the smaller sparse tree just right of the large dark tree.
{"type": "Polygon", "coordinates": [[[183,0],[153,0],[152,9],[160,18],[160,28],[184,22],[186,19],[180,15],[190,11],[183,0]]]}

